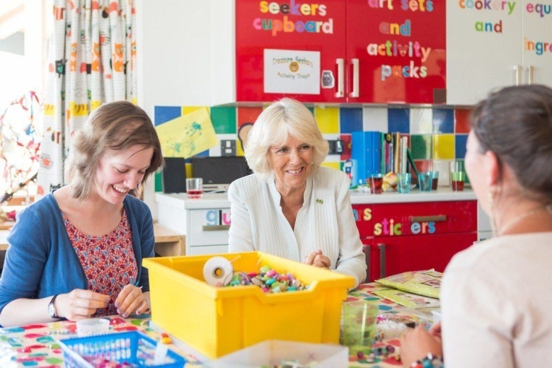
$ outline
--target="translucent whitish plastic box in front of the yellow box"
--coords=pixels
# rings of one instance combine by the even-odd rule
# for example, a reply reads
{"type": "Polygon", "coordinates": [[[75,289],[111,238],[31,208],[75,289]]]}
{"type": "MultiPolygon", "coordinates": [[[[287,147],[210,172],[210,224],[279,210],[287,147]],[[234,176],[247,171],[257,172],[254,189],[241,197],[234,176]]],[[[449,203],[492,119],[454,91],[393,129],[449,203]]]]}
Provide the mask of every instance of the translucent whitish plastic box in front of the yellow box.
{"type": "Polygon", "coordinates": [[[347,364],[349,350],[344,346],[267,340],[224,355],[206,365],[208,368],[340,368],[347,367],[347,364]]]}

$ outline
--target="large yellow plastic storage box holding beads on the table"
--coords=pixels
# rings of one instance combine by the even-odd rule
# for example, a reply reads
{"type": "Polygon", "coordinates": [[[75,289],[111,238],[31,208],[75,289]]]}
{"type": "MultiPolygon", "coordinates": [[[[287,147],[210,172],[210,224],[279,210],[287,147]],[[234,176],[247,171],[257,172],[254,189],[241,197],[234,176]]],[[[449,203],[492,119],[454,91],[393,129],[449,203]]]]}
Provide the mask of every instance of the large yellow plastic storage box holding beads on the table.
{"type": "Polygon", "coordinates": [[[235,271],[268,265],[309,284],[298,292],[265,294],[260,287],[213,287],[203,265],[215,255],[148,258],[151,319],[195,350],[217,358],[264,340],[339,342],[341,304],[355,280],[338,272],[261,252],[217,254],[235,271]]]}

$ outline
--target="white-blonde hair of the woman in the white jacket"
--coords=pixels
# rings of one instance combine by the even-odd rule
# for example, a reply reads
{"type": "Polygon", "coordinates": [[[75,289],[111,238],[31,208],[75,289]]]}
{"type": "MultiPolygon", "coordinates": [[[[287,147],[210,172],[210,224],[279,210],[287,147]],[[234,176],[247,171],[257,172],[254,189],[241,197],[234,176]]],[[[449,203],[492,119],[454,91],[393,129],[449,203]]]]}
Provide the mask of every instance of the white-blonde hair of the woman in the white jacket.
{"type": "Polygon", "coordinates": [[[268,160],[270,147],[284,144],[289,136],[313,147],[312,173],[318,171],[328,156],[328,141],[322,137],[311,111],[297,100],[282,98],[260,113],[244,149],[249,167],[260,180],[268,180],[272,172],[268,160]]]}

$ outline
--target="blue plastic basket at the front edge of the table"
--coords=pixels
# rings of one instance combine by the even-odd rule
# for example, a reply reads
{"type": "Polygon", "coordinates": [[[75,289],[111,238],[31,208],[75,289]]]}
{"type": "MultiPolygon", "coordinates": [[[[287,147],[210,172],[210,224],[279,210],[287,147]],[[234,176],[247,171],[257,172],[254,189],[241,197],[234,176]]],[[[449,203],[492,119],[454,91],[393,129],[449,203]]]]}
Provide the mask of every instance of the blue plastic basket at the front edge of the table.
{"type": "Polygon", "coordinates": [[[154,364],[157,342],[139,331],[59,340],[67,368],[94,368],[84,357],[103,358],[134,367],[182,368],[186,360],[167,350],[162,364],[154,364]]]}

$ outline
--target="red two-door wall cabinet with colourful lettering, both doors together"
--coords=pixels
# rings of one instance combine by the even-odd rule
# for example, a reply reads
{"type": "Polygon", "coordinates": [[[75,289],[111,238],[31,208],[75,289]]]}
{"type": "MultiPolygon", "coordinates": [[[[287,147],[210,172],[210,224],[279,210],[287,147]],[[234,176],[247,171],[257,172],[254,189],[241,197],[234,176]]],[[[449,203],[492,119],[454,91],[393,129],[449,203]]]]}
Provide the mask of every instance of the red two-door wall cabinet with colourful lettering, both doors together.
{"type": "Polygon", "coordinates": [[[238,102],[282,96],[311,103],[444,102],[445,1],[236,0],[235,5],[238,102]],[[289,51],[318,52],[320,70],[301,60],[286,62],[286,56],[293,57],[289,51]],[[274,68],[270,82],[265,67],[274,68]],[[301,88],[295,80],[301,70],[319,80],[310,84],[318,89],[293,89],[301,88]],[[284,87],[275,88],[285,79],[284,87]]]}

